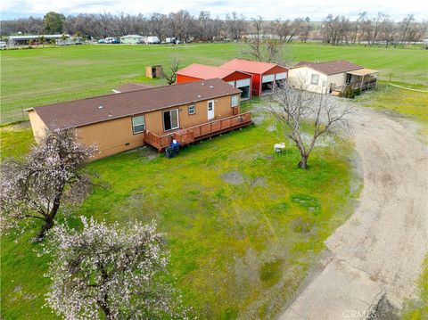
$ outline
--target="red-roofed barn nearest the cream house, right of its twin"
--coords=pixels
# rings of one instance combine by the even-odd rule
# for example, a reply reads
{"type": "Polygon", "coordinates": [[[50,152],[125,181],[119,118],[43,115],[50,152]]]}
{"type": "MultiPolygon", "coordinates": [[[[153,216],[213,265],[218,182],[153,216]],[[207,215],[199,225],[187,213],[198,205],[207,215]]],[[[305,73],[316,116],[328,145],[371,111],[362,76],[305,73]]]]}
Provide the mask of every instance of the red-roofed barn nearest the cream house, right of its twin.
{"type": "Polygon", "coordinates": [[[221,65],[220,68],[251,73],[252,95],[269,94],[272,92],[274,83],[276,86],[281,86],[288,77],[287,68],[270,62],[253,62],[244,59],[233,59],[221,65]]]}

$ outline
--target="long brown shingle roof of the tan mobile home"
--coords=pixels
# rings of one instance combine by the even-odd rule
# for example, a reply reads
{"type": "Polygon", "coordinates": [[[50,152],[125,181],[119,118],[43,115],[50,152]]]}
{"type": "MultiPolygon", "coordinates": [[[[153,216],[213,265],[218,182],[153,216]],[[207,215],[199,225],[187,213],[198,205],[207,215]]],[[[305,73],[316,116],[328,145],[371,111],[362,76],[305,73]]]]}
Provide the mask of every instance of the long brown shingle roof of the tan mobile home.
{"type": "Polygon", "coordinates": [[[241,91],[219,78],[213,78],[55,103],[34,108],[34,111],[48,127],[81,127],[230,94],[241,94],[241,91]]]}

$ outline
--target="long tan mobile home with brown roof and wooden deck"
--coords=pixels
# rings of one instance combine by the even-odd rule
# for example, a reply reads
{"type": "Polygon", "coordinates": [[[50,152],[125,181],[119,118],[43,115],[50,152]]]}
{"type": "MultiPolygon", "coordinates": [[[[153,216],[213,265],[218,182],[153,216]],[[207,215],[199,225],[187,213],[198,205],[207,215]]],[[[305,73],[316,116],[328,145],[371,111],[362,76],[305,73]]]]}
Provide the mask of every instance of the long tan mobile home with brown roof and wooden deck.
{"type": "Polygon", "coordinates": [[[29,109],[36,141],[45,128],[77,127],[83,144],[97,144],[95,158],[143,144],[162,150],[172,140],[185,145],[251,124],[241,113],[241,91],[215,78],[155,86],[29,109]]]}

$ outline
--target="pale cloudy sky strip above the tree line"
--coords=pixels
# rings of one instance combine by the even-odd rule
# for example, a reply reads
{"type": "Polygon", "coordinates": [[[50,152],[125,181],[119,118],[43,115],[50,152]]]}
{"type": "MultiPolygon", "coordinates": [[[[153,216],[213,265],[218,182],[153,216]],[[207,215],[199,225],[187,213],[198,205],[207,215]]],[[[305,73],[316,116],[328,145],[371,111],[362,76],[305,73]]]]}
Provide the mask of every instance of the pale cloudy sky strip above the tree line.
{"type": "Polygon", "coordinates": [[[267,20],[306,17],[321,21],[328,13],[355,19],[358,12],[385,12],[396,21],[413,13],[417,20],[428,18],[428,1],[423,0],[4,0],[0,2],[1,19],[15,19],[45,12],[65,15],[82,12],[176,12],[180,9],[192,14],[209,11],[213,17],[224,18],[227,12],[243,13],[246,18],[258,15],[267,20]]]}

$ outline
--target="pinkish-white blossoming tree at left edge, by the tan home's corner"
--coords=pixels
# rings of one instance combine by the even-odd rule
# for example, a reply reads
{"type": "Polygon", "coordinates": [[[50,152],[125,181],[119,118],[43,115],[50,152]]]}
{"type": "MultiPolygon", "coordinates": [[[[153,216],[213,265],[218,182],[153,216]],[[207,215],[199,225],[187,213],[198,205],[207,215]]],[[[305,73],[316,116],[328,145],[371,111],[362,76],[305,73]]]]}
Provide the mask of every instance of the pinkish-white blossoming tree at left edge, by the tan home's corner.
{"type": "Polygon", "coordinates": [[[0,177],[2,228],[17,226],[24,218],[40,219],[43,226],[37,239],[42,239],[53,227],[62,203],[79,203],[90,192],[85,165],[95,150],[95,146],[78,142],[75,129],[53,129],[46,130],[25,159],[4,160],[0,177]]]}

